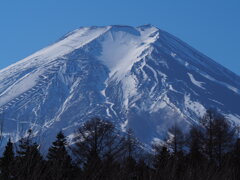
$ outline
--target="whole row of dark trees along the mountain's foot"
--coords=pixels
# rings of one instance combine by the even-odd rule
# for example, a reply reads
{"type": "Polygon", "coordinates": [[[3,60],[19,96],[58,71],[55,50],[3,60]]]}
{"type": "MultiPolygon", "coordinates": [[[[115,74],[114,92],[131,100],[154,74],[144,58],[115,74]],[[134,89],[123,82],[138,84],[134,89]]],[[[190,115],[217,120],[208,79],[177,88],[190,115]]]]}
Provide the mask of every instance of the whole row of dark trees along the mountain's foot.
{"type": "Polygon", "coordinates": [[[94,118],[68,144],[62,132],[47,156],[32,132],[15,146],[9,139],[0,159],[1,180],[238,180],[240,139],[237,129],[215,111],[187,134],[175,124],[165,144],[150,152],[128,130],[94,118]]]}

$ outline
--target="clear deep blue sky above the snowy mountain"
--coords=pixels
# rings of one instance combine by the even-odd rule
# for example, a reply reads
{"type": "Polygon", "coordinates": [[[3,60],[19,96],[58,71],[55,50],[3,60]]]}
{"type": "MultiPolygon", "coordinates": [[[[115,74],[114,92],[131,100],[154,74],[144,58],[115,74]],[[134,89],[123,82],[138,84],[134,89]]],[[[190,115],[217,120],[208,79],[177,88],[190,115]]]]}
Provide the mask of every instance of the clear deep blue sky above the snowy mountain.
{"type": "Polygon", "coordinates": [[[0,69],[81,26],[153,24],[240,75],[239,0],[1,0],[0,69]]]}

